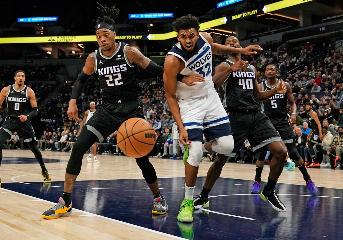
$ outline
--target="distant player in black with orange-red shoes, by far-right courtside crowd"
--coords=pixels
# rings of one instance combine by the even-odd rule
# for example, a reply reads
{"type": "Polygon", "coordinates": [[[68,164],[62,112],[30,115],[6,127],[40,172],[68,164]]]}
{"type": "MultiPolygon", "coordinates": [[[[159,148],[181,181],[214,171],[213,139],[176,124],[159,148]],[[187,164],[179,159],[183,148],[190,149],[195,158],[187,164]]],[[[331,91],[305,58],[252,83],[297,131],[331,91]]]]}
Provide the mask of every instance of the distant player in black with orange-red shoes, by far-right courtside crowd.
{"type": "Polygon", "coordinates": [[[319,163],[316,158],[315,150],[313,149],[313,146],[316,144],[317,154],[326,154],[327,156],[329,156],[331,158],[332,168],[336,168],[340,164],[342,158],[340,156],[335,156],[332,153],[327,152],[326,150],[322,148],[321,143],[324,137],[321,131],[321,124],[318,118],[318,114],[317,112],[312,110],[312,105],[310,103],[306,103],[305,108],[308,113],[308,121],[310,122],[310,125],[311,125],[311,131],[307,135],[307,140],[309,141],[308,151],[311,154],[312,163],[308,165],[307,167],[320,168],[319,163]]]}

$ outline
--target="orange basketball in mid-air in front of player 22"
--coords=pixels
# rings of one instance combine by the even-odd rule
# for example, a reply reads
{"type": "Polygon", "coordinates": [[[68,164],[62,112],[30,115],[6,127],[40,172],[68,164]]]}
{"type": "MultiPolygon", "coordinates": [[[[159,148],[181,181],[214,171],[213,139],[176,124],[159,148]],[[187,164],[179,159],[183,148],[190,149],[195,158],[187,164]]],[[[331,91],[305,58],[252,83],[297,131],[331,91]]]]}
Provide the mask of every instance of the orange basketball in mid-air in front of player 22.
{"type": "Polygon", "coordinates": [[[118,129],[117,142],[120,150],[130,157],[143,157],[155,145],[156,134],[149,122],[142,118],[130,118],[118,129]]]}

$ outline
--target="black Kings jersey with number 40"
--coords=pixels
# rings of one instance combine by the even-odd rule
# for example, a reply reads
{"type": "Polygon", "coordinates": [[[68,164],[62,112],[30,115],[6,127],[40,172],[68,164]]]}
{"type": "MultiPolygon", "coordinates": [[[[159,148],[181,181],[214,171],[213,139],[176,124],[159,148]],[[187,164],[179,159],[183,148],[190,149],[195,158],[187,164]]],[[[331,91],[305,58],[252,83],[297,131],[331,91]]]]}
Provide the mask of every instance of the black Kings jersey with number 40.
{"type": "MultiPolygon", "coordinates": [[[[225,63],[232,66],[234,62],[225,60],[225,63]]],[[[226,111],[248,112],[257,110],[260,104],[256,100],[255,71],[251,65],[245,71],[231,72],[222,85],[224,89],[223,105],[226,111]]]]}

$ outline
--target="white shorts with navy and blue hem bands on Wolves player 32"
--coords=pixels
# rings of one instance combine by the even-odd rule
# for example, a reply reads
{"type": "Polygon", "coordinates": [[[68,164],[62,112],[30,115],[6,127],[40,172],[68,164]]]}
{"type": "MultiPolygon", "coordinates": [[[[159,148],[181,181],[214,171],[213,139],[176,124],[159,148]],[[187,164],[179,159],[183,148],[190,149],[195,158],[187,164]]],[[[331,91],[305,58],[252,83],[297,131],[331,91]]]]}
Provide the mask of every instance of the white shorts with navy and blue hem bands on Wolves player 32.
{"type": "Polygon", "coordinates": [[[206,141],[232,135],[229,117],[214,88],[207,96],[177,101],[188,140],[203,142],[203,134],[206,141]]]}

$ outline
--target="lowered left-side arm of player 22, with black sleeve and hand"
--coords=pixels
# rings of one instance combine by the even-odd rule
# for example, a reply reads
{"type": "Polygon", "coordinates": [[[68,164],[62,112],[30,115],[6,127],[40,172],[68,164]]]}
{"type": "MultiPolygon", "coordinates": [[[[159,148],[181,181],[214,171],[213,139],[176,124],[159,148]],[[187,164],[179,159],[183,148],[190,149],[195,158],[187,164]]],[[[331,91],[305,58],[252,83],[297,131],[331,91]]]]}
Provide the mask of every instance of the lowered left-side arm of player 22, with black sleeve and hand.
{"type": "Polygon", "coordinates": [[[76,99],[79,97],[88,79],[94,73],[94,71],[95,71],[95,54],[94,52],[92,52],[90,55],[88,55],[86,59],[86,64],[83,67],[80,75],[76,79],[74,83],[73,91],[71,92],[69,107],[67,111],[67,114],[70,120],[74,119],[75,122],[79,120],[79,110],[78,110],[78,106],[76,106],[76,99]]]}

